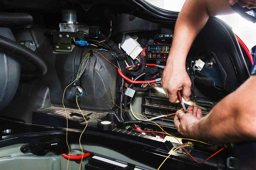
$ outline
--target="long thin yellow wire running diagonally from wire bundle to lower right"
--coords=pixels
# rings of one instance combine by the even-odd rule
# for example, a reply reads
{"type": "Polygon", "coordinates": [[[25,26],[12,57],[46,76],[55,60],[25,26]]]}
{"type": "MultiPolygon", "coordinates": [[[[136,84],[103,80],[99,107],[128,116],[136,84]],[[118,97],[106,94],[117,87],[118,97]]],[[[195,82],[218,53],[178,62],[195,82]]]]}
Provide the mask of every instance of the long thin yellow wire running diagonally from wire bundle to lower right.
{"type": "MultiPolygon", "coordinates": [[[[105,89],[105,91],[106,91],[108,97],[110,98],[110,100],[114,103],[114,105],[116,105],[118,108],[120,108],[120,109],[122,109],[122,110],[124,110],[124,111],[126,111],[126,112],[130,112],[130,113],[134,113],[134,114],[137,114],[137,115],[141,115],[141,116],[145,117],[147,120],[149,120],[146,116],[144,116],[144,115],[142,115],[142,114],[135,113],[135,112],[131,112],[131,111],[128,111],[128,110],[125,110],[125,109],[119,107],[119,106],[111,99],[110,95],[108,94],[108,92],[107,92],[107,90],[106,90],[106,87],[105,87],[105,84],[104,84],[103,79],[101,78],[100,74],[97,72],[97,70],[95,69],[95,67],[93,66],[93,63],[92,63],[92,61],[91,61],[90,58],[89,58],[89,60],[90,60],[90,62],[91,62],[91,64],[92,64],[92,67],[94,68],[94,70],[96,71],[96,73],[99,75],[99,77],[100,77],[100,79],[101,79],[101,81],[102,81],[102,83],[103,83],[104,89],[105,89]]],[[[170,135],[169,133],[167,133],[167,132],[166,132],[164,129],[162,129],[156,122],[153,122],[153,121],[151,121],[151,120],[149,120],[149,121],[152,122],[152,123],[154,123],[154,124],[156,124],[161,130],[163,130],[163,132],[165,132],[165,133],[168,134],[169,136],[174,137],[174,138],[178,138],[178,137],[175,137],[175,136],[170,135]]],[[[209,144],[209,143],[206,143],[206,142],[201,142],[201,141],[197,141],[197,140],[193,140],[193,139],[187,139],[187,138],[179,138],[179,139],[190,140],[190,141],[196,141],[196,142],[204,143],[204,144],[207,144],[207,145],[212,145],[212,144],[209,144]]]]}

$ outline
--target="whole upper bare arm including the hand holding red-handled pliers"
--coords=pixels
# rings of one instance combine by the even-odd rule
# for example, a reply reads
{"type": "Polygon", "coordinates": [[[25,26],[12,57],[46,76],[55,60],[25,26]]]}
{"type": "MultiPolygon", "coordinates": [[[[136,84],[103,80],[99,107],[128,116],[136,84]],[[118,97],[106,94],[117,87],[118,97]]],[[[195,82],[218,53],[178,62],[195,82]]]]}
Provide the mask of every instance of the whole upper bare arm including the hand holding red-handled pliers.
{"type": "MultiPolygon", "coordinates": [[[[233,1],[233,0],[230,0],[233,1]]],[[[178,16],[171,51],[163,72],[161,84],[170,102],[177,101],[177,92],[183,88],[183,98],[189,100],[191,81],[186,72],[186,57],[197,34],[209,16],[231,14],[228,0],[187,0],[178,16]]]]}

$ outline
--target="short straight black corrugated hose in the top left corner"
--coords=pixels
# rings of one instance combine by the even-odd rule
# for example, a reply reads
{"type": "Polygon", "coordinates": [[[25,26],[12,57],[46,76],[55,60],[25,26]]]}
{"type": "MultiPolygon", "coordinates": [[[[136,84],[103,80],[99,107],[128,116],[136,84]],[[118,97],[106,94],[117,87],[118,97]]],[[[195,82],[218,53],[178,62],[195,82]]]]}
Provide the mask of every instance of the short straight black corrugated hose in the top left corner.
{"type": "Polygon", "coordinates": [[[33,22],[33,17],[26,13],[0,12],[0,24],[2,25],[23,25],[33,22]]]}

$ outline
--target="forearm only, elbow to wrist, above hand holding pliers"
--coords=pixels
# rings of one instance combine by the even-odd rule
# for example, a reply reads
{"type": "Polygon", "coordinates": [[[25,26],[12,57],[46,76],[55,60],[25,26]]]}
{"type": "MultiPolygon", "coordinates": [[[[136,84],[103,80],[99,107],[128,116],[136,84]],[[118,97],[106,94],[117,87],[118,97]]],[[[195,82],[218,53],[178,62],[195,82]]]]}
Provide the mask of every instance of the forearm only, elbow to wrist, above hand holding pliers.
{"type": "Polygon", "coordinates": [[[209,14],[204,0],[187,0],[185,2],[175,25],[174,39],[167,65],[170,61],[177,61],[175,64],[185,67],[192,42],[208,18],[209,14]]]}

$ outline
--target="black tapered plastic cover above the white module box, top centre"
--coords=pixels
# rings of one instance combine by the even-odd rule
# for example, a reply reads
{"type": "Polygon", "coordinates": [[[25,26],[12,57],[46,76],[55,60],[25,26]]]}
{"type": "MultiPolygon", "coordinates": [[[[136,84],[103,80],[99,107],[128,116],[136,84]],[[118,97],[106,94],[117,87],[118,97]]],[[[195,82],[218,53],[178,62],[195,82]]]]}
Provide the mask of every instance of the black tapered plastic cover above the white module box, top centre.
{"type": "Polygon", "coordinates": [[[112,22],[112,28],[113,34],[117,34],[135,31],[159,30],[161,29],[161,25],[129,14],[121,14],[112,22]]]}

